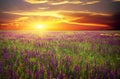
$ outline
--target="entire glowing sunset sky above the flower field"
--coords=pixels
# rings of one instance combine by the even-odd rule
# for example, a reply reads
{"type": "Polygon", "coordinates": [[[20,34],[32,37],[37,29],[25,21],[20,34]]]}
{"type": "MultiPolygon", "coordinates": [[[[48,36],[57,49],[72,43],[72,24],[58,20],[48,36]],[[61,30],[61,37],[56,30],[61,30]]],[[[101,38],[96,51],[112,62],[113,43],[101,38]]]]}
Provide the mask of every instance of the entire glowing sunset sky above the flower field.
{"type": "Polygon", "coordinates": [[[120,0],[0,0],[0,30],[120,30],[119,25],[120,0]]]}

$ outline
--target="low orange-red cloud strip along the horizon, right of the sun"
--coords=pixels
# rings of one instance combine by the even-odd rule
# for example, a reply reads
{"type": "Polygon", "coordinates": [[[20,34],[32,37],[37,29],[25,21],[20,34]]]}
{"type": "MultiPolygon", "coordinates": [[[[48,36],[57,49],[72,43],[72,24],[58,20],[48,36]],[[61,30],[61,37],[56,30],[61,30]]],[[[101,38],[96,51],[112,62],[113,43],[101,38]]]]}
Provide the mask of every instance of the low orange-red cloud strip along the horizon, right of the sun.
{"type": "Polygon", "coordinates": [[[74,23],[74,22],[61,22],[53,26],[55,30],[105,30],[111,29],[109,26],[102,26],[99,24],[87,23],[74,23]],[[56,27],[55,27],[56,26],[56,27]],[[69,28],[69,29],[68,29],[69,28]]]}

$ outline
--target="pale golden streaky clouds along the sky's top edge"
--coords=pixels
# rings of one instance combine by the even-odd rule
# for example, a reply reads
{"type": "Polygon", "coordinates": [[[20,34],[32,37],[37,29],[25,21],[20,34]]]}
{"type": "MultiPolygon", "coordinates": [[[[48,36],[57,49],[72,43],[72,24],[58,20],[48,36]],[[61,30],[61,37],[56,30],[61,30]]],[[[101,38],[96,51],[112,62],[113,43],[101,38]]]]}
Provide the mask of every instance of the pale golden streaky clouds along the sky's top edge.
{"type": "Polygon", "coordinates": [[[48,3],[50,5],[63,5],[63,4],[82,4],[82,5],[92,5],[99,3],[99,0],[92,0],[92,1],[79,1],[79,0],[25,0],[25,2],[31,4],[41,4],[41,3],[48,3]]]}

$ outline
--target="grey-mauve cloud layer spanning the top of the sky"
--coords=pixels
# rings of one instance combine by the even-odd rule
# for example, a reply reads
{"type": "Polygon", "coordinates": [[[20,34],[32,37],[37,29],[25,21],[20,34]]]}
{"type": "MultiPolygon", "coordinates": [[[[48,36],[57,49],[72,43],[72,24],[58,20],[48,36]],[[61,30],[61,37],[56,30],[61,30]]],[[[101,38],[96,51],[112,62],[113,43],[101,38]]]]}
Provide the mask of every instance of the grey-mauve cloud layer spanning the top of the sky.
{"type": "MultiPolygon", "coordinates": [[[[44,0],[26,0],[30,2],[43,2],[44,0]]],[[[49,0],[48,0],[49,1],[49,0]]],[[[66,0],[68,1],[68,0],[66,0]]],[[[64,3],[61,0],[50,0],[50,2],[40,3],[40,4],[30,4],[25,2],[25,0],[0,0],[0,10],[22,10],[22,11],[33,11],[38,8],[49,7],[47,11],[52,10],[72,10],[72,11],[94,11],[94,12],[104,12],[104,13],[116,13],[120,10],[120,2],[114,2],[113,0],[80,0],[82,3],[77,4],[78,0],[72,0],[64,3]],[[51,2],[52,1],[52,2],[51,2]],[[98,1],[98,2],[97,2],[98,1]],[[64,4],[62,4],[62,2],[64,4]],[[83,5],[87,3],[93,3],[90,5],[83,5]],[[51,5],[50,3],[56,3],[59,5],[51,5]],[[73,4],[72,4],[73,3],[73,4]],[[76,3],[76,4],[74,4],[76,3]]],[[[79,2],[78,2],[79,3],[79,2]]]]}

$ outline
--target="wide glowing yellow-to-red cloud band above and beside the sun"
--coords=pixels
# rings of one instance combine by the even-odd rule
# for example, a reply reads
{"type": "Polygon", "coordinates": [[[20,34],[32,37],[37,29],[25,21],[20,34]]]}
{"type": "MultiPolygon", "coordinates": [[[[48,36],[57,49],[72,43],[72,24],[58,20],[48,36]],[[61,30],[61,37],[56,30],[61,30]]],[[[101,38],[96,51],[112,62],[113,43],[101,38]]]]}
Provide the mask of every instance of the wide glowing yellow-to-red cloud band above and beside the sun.
{"type": "MultiPolygon", "coordinates": [[[[4,12],[21,17],[12,21],[11,26],[33,28],[36,24],[45,25],[48,29],[61,27],[60,23],[66,28],[69,26],[84,26],[86,27],[99,27],[108,28],[108,21],[111,21],[110,14],[96,13],[89,11],[33,11],[33,12],[4,12]],[[66,26],[65,26],[65,25],[66,26]],[[23,26],[24,25],[24,26],[23,26]],[[57,25],[57,26],[56,26],[57,25]]],[[[63,27],[62,27],[63,28],[63,27]]],[[[62,29],[61,28],[61,29],[62,29]]],[[[71,27],[72,28],[72,27],[71,27]]],[[[68,28],[69,29],[69,28],[68,28]]]]}

